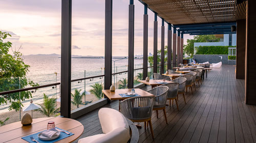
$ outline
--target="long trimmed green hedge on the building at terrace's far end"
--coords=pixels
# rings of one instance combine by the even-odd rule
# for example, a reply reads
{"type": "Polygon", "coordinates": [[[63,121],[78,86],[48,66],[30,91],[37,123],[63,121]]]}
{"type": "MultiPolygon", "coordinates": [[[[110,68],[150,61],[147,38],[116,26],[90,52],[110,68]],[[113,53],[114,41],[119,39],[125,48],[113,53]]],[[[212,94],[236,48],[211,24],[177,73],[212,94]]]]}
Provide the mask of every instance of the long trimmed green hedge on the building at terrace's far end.
{"type": "Polygon", "coordinates": [[[228,47],[236,46],[199,46],[196,54],[228,54],[228,47]]]}

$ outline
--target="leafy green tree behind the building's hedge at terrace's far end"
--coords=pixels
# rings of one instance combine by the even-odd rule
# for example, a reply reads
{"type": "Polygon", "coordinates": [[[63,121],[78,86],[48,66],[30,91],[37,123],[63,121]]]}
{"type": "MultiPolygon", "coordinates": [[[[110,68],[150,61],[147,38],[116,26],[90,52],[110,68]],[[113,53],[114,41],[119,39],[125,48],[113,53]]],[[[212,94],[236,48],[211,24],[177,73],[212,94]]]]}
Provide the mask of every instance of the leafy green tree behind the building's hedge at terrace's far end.
{"type": "Polygon", "coordinates": [[[190,56],[194,55],[194,43],[195,42],[207,42],[207,40],[219,40],[215,35],[197,35],[194,36],[194,39],[187,39],[187,44],[184,45],[184,53],[190,56]]]}

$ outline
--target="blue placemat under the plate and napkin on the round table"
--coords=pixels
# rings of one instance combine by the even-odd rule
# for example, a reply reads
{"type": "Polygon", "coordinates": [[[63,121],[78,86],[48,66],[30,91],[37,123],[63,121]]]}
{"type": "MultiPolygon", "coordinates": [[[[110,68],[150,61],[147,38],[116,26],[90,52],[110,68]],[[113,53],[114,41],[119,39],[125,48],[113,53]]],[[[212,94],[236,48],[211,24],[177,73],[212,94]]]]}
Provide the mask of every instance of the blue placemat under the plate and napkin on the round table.
{"type": "MultiPolygon", "coordinates": [[[[56,128],[57,128],[57,127],[56,127],[56,128]]],[[[58,128],[58,129],[60,129],[60,128],[58,128]]],[[[62,130],[62,129],[60,129],[60,130],[62,130]]],[[[65,130],[62,130],[62,131],[65,131],[65,130]]],[[[42,132],[43,132],[43,131],[42,131],[42,132]]],[[[66,131],[66,132],[69,132],[69,131],[66,131]]],[[[71,136],[71,135],[74,135],[74,133],[72,133],[72,132],[69,132],[70,134],[66,134],[66,133],[64,133],[64,132],[60,132],[59,137],[56,138],[56,139],[53,139],[53,140],[41,140],[41,139],[39,139],[38,136],[37,136],[39,133],[40,133],[40,132],[35,133],[35,134],[31,134],[31,135],[28,135],[28,136],[25,136],[25,137],[22,137],[22,139],[24,139],[24,140],[26,140],[26,141],[28,141],[28,142],[30,142],[30,143],[35,143],[35,141],[32,141],[32,140],[30,139],[30,136],[33,136],[34,139],[37,140],[37,141],[40,142],[40,143],[45,143],[45,142],[49,143],[49,142],[56,142],[56,141],[59,141],[59,140],[61,140],[61,139],[63,139],[63,138],[66,138],[66,137],[69,137],[69,136],[71,136]]]]}

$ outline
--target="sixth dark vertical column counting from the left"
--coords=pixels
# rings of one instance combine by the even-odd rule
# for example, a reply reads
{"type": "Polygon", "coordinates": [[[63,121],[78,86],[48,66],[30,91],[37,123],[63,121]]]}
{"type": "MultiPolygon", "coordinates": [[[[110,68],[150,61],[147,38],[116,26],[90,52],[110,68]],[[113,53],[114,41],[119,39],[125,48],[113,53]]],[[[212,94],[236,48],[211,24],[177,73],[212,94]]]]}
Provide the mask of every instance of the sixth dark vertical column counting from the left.
{"type": "Polygon", "coordinates": [[[164,73],[164,19],[161,26],[161,69],[160,74],[164,73]]]}

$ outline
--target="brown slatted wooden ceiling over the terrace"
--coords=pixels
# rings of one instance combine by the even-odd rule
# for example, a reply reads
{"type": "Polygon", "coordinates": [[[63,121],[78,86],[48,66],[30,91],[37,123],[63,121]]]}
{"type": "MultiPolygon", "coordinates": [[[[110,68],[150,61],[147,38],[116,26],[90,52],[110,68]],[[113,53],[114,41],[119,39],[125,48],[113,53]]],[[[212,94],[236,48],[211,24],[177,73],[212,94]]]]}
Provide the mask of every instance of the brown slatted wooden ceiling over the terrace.
{"type": "Polygon", "coordinates": [[[232,22],[246,18],[236,0],[141,0],[172,24],[232,22]]]}

